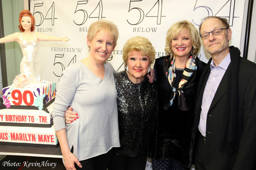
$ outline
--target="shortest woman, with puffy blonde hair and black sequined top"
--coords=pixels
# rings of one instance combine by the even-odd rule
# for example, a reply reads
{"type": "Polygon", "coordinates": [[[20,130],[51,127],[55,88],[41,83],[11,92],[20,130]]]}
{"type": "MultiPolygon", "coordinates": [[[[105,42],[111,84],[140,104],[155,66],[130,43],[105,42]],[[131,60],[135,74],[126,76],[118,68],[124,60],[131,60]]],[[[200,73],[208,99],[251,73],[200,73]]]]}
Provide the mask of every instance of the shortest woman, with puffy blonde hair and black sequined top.
{"type": "Polygon", "coordinates": [[[114,148],[108,170],[145,170],[156,114],[154,83],[145,75],[155,50],[138,36],[125,43],[122,53],[126,71],[114,74],[121,147],[114,148]]]}

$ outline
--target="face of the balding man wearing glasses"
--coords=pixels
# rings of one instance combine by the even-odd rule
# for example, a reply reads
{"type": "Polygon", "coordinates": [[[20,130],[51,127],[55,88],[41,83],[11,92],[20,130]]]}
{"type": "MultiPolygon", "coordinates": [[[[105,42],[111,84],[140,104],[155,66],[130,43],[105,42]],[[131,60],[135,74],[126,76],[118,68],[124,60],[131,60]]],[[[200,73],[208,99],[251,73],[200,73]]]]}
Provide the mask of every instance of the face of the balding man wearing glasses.
{"type": "MultiPolygon", "coordinates": [[[[226,26],[224,26],[221,20],[217,18],[210,18],[204,21],[204,23],[202,24],[200,34],[211,32],[218,28],[226,28],[226,26]]],[[[212,35],[212,33],[210,33],[208,39],[202,39],[205,50],[209,54],[224,53],[224,55],[226,56],[225,51],[228,49],[228,41],[231,39],[231,34],[231,29],[228,29],[227,31],[222,30],[222,33],[218,36],[214,36],[212,35]]]]}

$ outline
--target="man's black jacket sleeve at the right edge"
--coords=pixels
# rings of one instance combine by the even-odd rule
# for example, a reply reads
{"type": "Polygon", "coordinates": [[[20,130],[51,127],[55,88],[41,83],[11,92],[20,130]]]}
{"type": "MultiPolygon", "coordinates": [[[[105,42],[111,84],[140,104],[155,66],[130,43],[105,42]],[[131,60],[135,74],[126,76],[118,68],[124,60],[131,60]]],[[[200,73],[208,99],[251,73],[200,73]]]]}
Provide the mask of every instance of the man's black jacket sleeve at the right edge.
{"type": "Polygon", "coordinates": [[[233,170],[256,170],[256,73],[246,86],[243,99],[243,133],[233,170]]]}

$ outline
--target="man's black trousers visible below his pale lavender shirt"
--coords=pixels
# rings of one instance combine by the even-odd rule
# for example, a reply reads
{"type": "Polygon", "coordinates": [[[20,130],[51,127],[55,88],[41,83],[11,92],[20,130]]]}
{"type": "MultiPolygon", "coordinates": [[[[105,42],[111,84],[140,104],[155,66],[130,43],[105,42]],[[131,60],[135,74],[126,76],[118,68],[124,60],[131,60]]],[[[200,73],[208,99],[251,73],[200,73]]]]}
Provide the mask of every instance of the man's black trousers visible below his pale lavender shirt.
{"type": "Polygon", "coordinates": [[[198,131],[198,141],[195,148],[195,169],[196,170],[205,170],[205,143],[204,137],[198,131]]]}

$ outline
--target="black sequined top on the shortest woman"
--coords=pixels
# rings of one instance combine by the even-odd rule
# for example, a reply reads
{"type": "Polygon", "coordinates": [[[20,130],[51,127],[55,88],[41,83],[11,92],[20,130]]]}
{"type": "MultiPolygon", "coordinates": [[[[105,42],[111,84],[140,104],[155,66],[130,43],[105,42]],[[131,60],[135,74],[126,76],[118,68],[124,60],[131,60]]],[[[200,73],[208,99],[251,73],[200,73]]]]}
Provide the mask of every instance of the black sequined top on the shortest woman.
{"type": "Polygon", "coordinates": [[[114,74],[117,90],[119,139],[113,154],[124,157],[147,155],[156,115],[154,83],[148,77],[138,84],[125,71],[114,74]]]}

